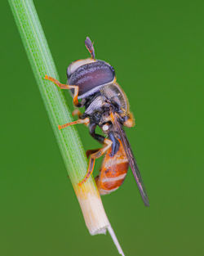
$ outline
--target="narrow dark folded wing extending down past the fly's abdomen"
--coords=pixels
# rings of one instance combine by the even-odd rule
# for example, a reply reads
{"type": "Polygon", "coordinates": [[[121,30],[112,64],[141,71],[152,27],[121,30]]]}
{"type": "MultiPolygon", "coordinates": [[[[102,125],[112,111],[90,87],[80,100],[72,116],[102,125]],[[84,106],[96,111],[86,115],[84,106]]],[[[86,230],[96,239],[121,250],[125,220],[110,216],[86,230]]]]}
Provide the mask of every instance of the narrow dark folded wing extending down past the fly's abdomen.
{"type": "Polygon", "coordinates": [[[135,157],[132,153],[130,143],[129,143],[127,137],[126,137],[126,133],[122,129],[122,124],[120,124],[117,119],[115,119],[114,123],[117,125],[117,130],[118,130],[119,135],[121,137],[122,145],[124,146],[124,150],[126,152],[126,157],[127,157],[128,161],[129,161],[129,164],[131,166],[131,171],[132,171],[132,173],[135,177],[135,181],[136,181],[137,186],[139,188],[140,195],[142,196],[142,199],[144,201],[144,205],[149,206],[148,195],[145,191],[144,183],[142,181],[142,177],[141,177],[141,174],[140,174],[140,170],[139,170],[139,168],[136,164],[135,157]]]}

